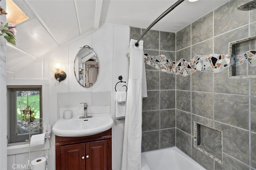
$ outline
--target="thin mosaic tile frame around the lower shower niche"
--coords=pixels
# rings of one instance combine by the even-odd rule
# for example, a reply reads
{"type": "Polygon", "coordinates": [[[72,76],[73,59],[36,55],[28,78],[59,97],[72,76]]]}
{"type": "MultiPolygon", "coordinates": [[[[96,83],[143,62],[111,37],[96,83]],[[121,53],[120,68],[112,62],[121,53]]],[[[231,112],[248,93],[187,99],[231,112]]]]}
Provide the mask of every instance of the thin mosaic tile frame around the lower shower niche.
{"type": "Polygon", "coordinates": [[[200,125],[200,126],[202,125],[204,127],[207,127],[207,128],[212,129],[212,130],[216,130],[216,131],[220,132],[221,133],[221,146],[223,146],[223,132],[221,130],[218,130],[218,129],[215,129],[215,128],[212,128],[212,127],[209,127],[209,126],[206,126],[206,125],[203,125],[201,123],[198,123],[198,122],[194,121],[194,148],[196,148],[197,150],[200,150],[201,152],[203,152],[204,154],[206,154],[210,158],[214,159],[215,161],[217,161],[218,163],[223,165],[223,161],[222,161],[222,159],[223,159],[223,152],[222,152],[222,155],[221,155],[221,159],[219,159],[216,156],[210,154],[208,151],[206,151],[203,148],[198,146],[198,144],[197,144],[197,140],[198,140],[197,139],[197,136],[198,136],[198,133],[197,133],[198,125],[200,125]]]}

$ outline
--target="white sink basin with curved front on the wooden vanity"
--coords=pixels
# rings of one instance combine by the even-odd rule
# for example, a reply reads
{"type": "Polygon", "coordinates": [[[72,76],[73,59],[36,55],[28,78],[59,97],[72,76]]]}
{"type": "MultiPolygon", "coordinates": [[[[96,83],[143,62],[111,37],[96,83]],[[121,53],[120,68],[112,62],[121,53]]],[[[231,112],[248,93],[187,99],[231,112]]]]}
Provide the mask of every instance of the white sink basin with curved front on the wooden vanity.
{"type": "Polygon", "coordinates": [[[79,119],[81,115],[71,119],[60,118],[52,127],[52,132],[57,136],[78,137],[98,134],[110,129],[113,119],[108,113],[88,114],[92,118],[79,119]]]}

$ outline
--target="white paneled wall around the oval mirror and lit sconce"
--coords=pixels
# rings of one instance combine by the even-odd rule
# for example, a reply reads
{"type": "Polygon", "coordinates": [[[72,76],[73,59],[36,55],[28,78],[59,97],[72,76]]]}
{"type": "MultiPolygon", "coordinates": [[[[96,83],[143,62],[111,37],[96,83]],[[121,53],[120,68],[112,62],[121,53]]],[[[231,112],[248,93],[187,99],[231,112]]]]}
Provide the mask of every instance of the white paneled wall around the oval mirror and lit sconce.
{"type": "MultiPolygon", "coordinates": [[[[80,40],[71,43],[70,45],[60,49],[59,51],[56,51],[55,53],[52,53],[52,55],[50,55],[43,61],[38,60],[38,63],[36,63],[36,65],[42,65],[42,68],[38,67],[37,69],[33,70],[38,72],[37,74],[39,75],[39,77],[37,79],[40,79],[42,77],[42,79],[49,80],[50,125],[53,126],[60,117],[61,109],[58,108],[58,95],[66,93],[75,94],[75,92],[86,92],[86,94],[92,93],[94,95],[110,94],[110,105],[106,107],[100,107],[100,109],[106,108],[106,110],[110,111],[110,113],[114,117],[114,86],[119,81],[119,75],[123,76],[123,81],[128,80],[129,62],[128,58],[126,57],[126,51],[128,50],[129,46],[129,32],[130,30],[128,26],[104,24],[97,31],[85,37],[82,37],[80,40]],[[80,86],[74,76],[74,58],[76,56],[76,53],[79,51],[79,47],[82,47],[84,45],[89,45],[94,49],[95,53],[98,55],[100,62],[100,74],[98,80],[91,88],[84,88],[80,86]],[[54,78],[54,63],[57,62],[62,63],[63,70],[67,74],[67,78],[61,83],[56,81],[56,79],[54,78]]],[[[8,79],[13,79],[13,77],[15,77],[15,79],[31,79],[31,77],[29,77],[29,71],[26,72],[24,70],[20,72],[16,71],[15,73],[12,73],[10,75],[8,74],[8,79]],[[24,77],[24,75],[27,75],[27,77],[24,77]]],[[[67,101],[70,101],[70,99],[67,99],[67,101]]],[[[88,101],[88,103],[90,102],[88,101]]],[[[43,116],[44,114],[47,113],[43,113],[43,116]]],[[[3,121],[5,120],[1,119],[1,122],[3,121]]],[[[124,121],[114,122],[114,126],[112,128],[112,169],[114,170],[120,170],[121,168],[123,128],[124,121]]],[[[50,139],[50,150],[48,151],[48,169],[50,170],[55,169],[54,144],[55,136],[54,134],[52,134],[50,139]]],[[[44,154],[44,152],[37,151],[32,154],[38,155],[38,157],[40,157],[42,154],[44,154]]],[[[22,161],[27,161],[27,153],[9,155],[8,167],[10,167],[9,164],[22,161]]]]}

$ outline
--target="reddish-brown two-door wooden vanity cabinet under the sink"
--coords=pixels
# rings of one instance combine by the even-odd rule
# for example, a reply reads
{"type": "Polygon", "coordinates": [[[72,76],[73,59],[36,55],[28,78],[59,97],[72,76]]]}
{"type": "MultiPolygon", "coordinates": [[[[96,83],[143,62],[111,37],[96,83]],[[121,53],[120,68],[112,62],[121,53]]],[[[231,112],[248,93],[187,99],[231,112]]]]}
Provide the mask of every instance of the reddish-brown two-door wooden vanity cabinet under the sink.
{"type": "Polygon", "coordinates": [[[92,136],[55,136],[56,170],[111,170],[112,129],[92,136]]]}

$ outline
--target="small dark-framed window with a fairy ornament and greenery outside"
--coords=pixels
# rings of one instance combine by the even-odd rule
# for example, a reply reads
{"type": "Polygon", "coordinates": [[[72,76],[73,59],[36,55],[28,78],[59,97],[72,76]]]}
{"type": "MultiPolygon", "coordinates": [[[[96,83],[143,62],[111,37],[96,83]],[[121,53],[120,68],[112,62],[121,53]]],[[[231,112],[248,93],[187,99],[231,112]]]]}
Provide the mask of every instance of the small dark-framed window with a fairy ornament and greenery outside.
{"type": "Polygon", "coordinates": [[[42,133],[42,86],[7,86],[8,145],[42,133]]]}

